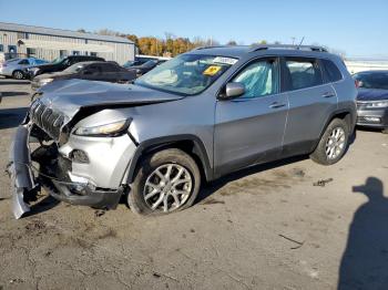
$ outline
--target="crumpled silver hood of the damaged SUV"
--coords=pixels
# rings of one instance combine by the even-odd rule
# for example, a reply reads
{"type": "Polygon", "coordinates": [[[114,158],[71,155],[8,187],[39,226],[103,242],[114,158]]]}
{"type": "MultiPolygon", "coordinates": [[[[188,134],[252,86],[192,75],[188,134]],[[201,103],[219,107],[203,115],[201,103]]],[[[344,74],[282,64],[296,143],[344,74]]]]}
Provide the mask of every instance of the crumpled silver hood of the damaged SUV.
{"type": "MultiPolygon", "coordinates": [[[[125,107],[180,100],[167,94],[132,84],[115,84],[85,80],[58,80],[44,85],[40,101],[71,120],[83,107],[125,107]]],[[[68,120],[68,121],[69,121],[68,120]]]]}

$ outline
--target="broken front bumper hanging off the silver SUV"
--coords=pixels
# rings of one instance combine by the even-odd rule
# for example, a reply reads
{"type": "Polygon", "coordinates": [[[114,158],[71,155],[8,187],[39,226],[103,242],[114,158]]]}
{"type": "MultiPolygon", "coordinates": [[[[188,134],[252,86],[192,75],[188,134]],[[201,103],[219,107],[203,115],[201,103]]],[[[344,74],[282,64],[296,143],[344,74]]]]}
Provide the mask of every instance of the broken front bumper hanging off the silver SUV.
{"type": "MultiPolygon", "coordinates": [[[[72,205],[92,206],[96,208],[115,208],[120,201],[122,189],[99,189],[89,184],[61,180],[60,177],[47,175],[35,178],[31,170],[31,153],[29,147],[30,130],[28,125],[18,127],[11,151],[8,172],[11,176],[12,211],[16,218],[30,211],[28,201],[33,199],[37,189],[43,186],[54,198],[72,205]]],[[[63,170],[63,168],[58,168],[63,170]]],[[[58,176],[64,176],[61,172],[58,176]]]]}

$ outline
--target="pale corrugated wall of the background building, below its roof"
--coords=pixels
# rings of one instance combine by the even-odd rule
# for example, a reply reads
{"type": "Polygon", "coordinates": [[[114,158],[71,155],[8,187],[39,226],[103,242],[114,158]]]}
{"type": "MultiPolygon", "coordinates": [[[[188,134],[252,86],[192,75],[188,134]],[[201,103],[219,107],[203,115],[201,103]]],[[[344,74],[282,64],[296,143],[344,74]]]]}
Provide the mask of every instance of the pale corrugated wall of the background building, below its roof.
{"type": "MultiPolygon", "coordinates": [[[[59,42],[68,42],[68,43],[80,43],[80,44],[103,44],[113,48],[113,52],[98,52],[96,55],[104,58],[106,61],[115,61],[119,64],[123,64],[129,60],[134,60],[135,48],[134,44],[131,43],[119,43],[119,42],[110,42],[110,41],[99,41],[99,40],[89,40],[89,39],[76,39],[76,38],[64,38],[64,37],[55,37],[55,35],[44,35],[44,34],[34,34],[34,33],[21,33],[21,32],[10,32],[10,31],[1,31],[0,30],[0,44],[3,45],[3,52],[9,52],[9,45],[17,46],[17,53],[25,54],[27,56],[27,48],[21,44],[18,45],[19,39],[28,39],[28,40],[42,40],[42,41],[59,41],[59,42]]],[[[38,59],[44,59],[47,61],[52,61],[57,58],[60,58],[60,50],[52,49],[34,49],[35,54],[31,56],[35,56],[38,59]]],[[[65,51],[67,55],[73,54],[73,51],[65,51]]],[[[81,55],[89,54],[90,52],[80,51],[81,55]]]]}

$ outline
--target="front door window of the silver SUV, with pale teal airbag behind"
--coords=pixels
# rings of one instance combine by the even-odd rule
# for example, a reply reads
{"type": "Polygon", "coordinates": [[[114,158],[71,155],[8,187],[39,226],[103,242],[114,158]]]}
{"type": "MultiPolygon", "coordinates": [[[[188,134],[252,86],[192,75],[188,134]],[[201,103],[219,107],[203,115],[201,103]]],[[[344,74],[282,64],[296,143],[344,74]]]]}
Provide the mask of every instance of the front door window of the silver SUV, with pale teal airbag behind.
{"type": "Polygon", "coordinates": [[[261,60],[251,63],[238,73],[233,82],[244,84],[245,93],[241,97],[256,97],[277,92],[276,62],[261,60]]]}

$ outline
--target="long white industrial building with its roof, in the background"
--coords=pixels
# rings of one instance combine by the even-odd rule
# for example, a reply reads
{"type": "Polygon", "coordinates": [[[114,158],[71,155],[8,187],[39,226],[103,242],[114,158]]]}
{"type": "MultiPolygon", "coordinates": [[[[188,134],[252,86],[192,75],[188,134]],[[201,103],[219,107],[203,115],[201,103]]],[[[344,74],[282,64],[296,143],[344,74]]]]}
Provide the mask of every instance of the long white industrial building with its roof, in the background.
{"type": "Polygon", "coordinates": [[[123,64],[135,45],[125,38],[0,22],[0,53],[52,61],[65,55],[96,55],[123,64]]]}

